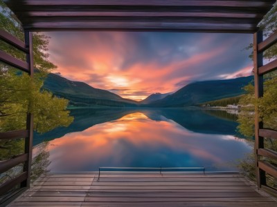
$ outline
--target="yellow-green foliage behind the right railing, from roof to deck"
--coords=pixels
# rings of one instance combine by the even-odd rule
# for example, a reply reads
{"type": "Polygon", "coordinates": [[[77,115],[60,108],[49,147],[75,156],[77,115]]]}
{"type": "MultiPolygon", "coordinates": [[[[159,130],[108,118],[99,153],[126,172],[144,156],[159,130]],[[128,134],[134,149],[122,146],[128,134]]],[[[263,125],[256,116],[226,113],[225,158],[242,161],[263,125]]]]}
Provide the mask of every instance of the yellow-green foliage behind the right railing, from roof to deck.
{"type": "MultiPolygon", "coordinates": [[[[260,29],[264,31],[265,37],[268,37],[273,32],[277,31],[277,3],[274,7],[265,15],[264,19],[259,23],[260,29]]],[[[253,48],[253,44],[249,45],[249,48],[253,48]]],[[[264,58],[269,61],[277,58],[277,44],[271,46],[265,50],[264,58]]],[[[252,58],[253,55],[250,55],[252,58]]],[[[244,95],[239,104],[242,105],[242,110],[238,116],[238,130],[249,137],[249,143],[253,145],[254,135],[254,108],[258,108],[258,115],[260,121],[262,121],[264,128],[271,128],[277,130],[277,72],[270,72],[264,77],[264,94],[263,97],[256,99],[254,97],[253,83],[249,83],[244,87],[247,95],[244,95]]],[[[272,139],[265,139],[265,148],[277,151],[277,141],[272,139]]],[[[246,159],[240,162],[240,169],[251,179],[255,179],[256,175],[256,163],[254,160],[255,153],[249,155],[246,159]]],[[[274,159],[264,158],[269,163],[277,166],[277,161],[274,159]]],[[[267,175],[267,184],[269,186],[277,187],[277,179],[267,175]]]]}

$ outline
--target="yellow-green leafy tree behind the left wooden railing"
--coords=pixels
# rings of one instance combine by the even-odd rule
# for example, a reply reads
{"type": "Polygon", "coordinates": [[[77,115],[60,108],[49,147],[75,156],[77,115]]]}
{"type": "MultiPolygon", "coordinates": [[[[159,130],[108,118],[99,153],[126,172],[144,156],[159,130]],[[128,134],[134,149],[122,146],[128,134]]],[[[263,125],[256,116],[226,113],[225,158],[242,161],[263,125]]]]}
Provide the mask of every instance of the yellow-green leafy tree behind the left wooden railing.
{"type": "MultiPolygon", "coordinates": [[[[5,3],[0,0],[0,28],[24,41],[24,33],[19,21],[5,3]]],[[[34,115],[34,130],[47,132],[58,126],[69,126],[73,117],[66,106],[69,101],[55,97],[51,92],[42,90],[48,72],[56,66],[48,60],[49,38],[45,34],[33,34],[33,54],[35,75],[30,77],[25,72],[0,63],[0,132],[26,128],[26,115],[34,115]]],[[[0,50],[25,61],[24,52],[0,41],[0,50]]],[[[0,159],[20,154],[23,140],[0,141],[0,159]]]]}

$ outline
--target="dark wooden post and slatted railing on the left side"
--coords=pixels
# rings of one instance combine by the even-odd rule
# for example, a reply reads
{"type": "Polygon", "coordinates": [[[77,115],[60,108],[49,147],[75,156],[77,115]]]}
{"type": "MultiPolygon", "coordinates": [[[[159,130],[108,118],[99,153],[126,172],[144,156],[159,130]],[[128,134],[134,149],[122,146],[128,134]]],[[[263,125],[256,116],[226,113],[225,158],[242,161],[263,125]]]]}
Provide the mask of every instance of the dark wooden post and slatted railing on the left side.
{"type": "MultiPolygon", "coordinates": [[[[31,32],[25,32],[25,43],[4,30],[0,30],[0,39],[26,53],[26,61],[21,61],[6,52],[0,50],[0,61],[14,68],[28,72],[33,77],[33,39],[31,32]]],[[[11,168],[23,164],[23,172],[15,177],[10,177],[0,185],[0,197],[6,195],[6,199],[0,201],[0,206],[5,206],[10,200],[15,199],[19,193],[30,186],[30,166],[33,149],[33,115],[28,114],[26,119],[26,130],[15,130],[10,132],[0,132],[0,140],[3,139],[25,139],[24,154],[10,157],[10,159],[0,161],[0,174],[7,172],[11,168]],[[15,186],[20,187],[14,192],[10,192],[15,186]],[[8,193],[8,194],[7,194],[8,193]]]]}

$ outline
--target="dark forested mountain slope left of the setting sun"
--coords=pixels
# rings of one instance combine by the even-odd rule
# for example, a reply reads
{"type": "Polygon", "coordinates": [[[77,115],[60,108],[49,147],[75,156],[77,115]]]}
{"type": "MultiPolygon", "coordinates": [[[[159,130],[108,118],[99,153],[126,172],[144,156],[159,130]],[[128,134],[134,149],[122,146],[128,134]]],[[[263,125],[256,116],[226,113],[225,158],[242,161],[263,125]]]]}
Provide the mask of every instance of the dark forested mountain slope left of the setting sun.
{"type": "Polygon", "coordinates": [[[79,81],[70,81],[53,73],[45,79],[43,88],[58,97],[69,99],[71,106],[137,106],[136,101],[123,99],[107,90],[93,88],[79,81]]]}

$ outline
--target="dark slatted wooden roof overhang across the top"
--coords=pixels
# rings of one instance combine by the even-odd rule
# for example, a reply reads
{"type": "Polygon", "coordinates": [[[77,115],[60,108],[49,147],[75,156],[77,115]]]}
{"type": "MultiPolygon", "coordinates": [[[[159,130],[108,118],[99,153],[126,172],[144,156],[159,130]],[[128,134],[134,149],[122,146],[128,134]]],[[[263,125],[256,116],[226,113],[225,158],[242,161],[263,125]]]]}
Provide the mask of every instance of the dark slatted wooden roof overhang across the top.
{"type": "Polygon", "coordinates": [[[253,33],[274,1],[3,0],[30,31],[253,33]]]}

